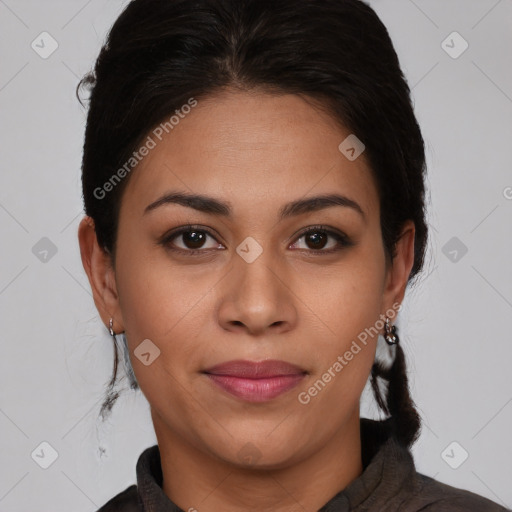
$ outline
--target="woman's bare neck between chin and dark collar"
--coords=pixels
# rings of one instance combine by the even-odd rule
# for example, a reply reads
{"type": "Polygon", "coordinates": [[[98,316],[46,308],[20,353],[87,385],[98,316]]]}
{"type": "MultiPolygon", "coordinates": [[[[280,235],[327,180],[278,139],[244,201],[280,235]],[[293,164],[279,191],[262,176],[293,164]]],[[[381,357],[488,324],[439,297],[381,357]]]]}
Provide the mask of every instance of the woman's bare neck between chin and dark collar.
{"type": "Polygon", "coordinates": [[[192,446],[156,414],[163,491],[187,512],[318,510],[363,472],[359,411],[311,456],[279,469],[247,469],[192,446]]]}

